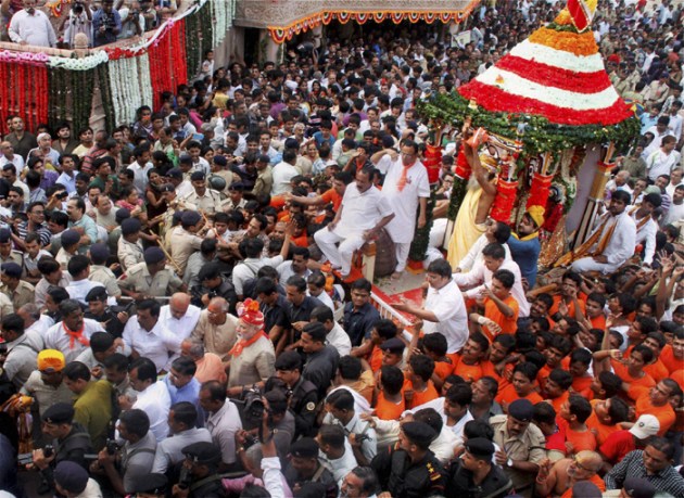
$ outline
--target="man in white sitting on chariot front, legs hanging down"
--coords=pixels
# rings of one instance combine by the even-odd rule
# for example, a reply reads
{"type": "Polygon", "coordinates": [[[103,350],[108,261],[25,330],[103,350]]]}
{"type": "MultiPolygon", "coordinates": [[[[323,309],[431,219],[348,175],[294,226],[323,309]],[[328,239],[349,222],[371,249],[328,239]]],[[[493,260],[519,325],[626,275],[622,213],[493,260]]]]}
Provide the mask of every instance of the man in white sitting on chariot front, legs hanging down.
{"type": "Polygon", "coordinates": [[[393,216],[389,201],[372,184],[372,170],[363,168],[356,173],[356,181],[346,187],[334,219],[314,239],[330,264],[346,278],[354,251],[371,240],[393,216]]]}

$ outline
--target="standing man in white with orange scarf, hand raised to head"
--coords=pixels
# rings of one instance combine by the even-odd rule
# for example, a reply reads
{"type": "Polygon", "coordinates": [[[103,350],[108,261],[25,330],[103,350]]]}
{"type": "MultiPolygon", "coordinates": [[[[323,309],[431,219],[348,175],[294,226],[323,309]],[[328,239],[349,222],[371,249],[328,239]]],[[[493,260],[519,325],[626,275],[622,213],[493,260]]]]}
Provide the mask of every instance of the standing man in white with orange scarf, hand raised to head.
{"type": "Polygon", "coordinates": [[[400,156],[392,161],[384,155],[377,163],[377,167],[385,175],[382,184],[382,195],[390,202],[394,218],[388,224],[388,232],[394,242],[396,251],[396,268],[394,278],[401,277],[406,268],[408,251],[416,231],[416,210],[418,228],[426,225],[426,210],[430,199],[430,182],[428,170],[418,161],[418,145],[413,140],[405,140],[400,156]]]}

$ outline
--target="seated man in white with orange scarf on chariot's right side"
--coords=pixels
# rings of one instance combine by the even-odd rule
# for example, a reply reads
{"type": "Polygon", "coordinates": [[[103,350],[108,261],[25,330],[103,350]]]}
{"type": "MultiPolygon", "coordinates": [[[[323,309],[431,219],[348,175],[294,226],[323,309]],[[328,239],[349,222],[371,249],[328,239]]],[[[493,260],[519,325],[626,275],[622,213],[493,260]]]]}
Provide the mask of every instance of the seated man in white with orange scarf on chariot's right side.
{"type": "Polygon", "coordinates": [[[607,217],[599,218],[598,227],[595,229],[595,231],[600,230],[600,233],[597,242],[590,248],[592,255],[574,261],[571,266],[572,271],[610,273],[634,254],[636,225],[626,212],[631,200],[631,195],[621,190],[612,194],[607,217]]]}

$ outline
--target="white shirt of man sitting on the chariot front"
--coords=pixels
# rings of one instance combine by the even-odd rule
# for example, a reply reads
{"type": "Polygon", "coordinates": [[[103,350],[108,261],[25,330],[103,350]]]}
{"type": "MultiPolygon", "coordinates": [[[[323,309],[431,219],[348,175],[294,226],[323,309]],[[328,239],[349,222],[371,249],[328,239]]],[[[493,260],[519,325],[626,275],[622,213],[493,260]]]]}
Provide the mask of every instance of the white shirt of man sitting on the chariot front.
{"type": "Polygon", "coordinates": [[[390,202],[375,186],[362,193],[355,181],[346,186],[340,208],[340,222],[332,232],[343,238],[360,237],[380,219],[392,214],[390,202]]]}

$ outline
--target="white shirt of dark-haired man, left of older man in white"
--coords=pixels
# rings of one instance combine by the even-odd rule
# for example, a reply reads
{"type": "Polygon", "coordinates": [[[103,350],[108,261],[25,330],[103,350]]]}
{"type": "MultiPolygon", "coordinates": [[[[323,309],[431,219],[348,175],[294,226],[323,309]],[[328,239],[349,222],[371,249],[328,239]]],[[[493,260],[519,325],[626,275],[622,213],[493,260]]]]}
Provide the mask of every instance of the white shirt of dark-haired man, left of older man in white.
{"type": "Polygon", "coordinates": [[[167,366],[177,356],[181,339],[169,332],[160,320],[151,331],[144,330],[138,323],[138,317],[131,317],[126,322],[123,334],[124,342],[136,349],[140,356],[150,358],[156,366],[156,371],[169,370],[167,366]]]}

